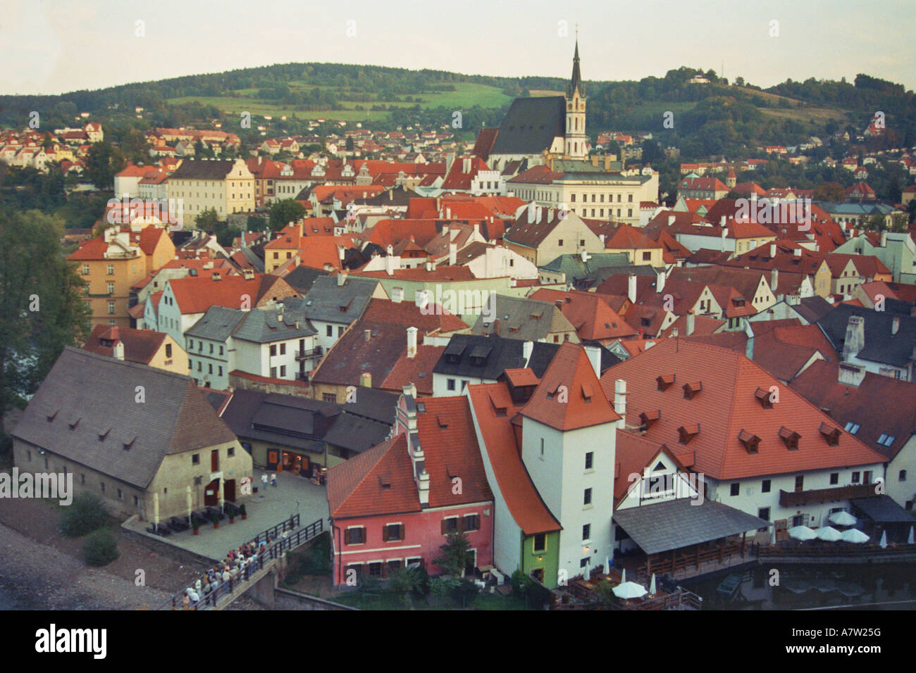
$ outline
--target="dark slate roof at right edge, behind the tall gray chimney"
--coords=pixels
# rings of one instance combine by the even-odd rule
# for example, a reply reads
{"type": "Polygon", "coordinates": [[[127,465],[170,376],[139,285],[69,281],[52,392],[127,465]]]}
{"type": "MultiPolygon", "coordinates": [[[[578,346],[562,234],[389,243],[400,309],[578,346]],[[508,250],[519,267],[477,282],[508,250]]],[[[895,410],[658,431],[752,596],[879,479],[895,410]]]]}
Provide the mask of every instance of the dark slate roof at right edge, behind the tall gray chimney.
{"type": "Polygon", "coordinates": [[[865,320],[865,348],[858,353],[859,359],[898,367],[911,361],[913,343],[916,343],[916,317],[849,304],[839,304],[817,321],[837,353],[843,353],[846,325],[852,316],[861,316],[865,320]],[[900,320],[896,334],[891,333],[894,320],[900,320]]]}

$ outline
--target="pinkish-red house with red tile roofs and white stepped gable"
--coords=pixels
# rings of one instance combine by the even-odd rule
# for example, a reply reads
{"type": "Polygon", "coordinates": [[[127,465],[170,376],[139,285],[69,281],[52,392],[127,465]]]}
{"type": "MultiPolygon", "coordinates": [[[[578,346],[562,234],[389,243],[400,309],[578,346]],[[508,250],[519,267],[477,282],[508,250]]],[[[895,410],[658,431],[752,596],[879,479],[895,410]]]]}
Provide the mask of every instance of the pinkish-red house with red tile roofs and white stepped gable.
{"type": "Polygon", "coordinates": [[[474,566],[493,563],[493,494],[465,396],[398,402],[394,435],[328,472],[333,580],[385,578],[420,563],[431,575],[446,535],[464,532],[474,566]]]}

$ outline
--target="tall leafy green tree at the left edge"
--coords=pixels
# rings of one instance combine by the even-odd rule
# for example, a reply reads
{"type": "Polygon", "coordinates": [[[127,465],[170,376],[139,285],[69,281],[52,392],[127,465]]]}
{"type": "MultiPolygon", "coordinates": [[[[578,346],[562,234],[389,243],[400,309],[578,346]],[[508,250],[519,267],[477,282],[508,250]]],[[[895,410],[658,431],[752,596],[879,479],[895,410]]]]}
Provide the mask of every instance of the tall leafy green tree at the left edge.
{"type": "Polygon", "coordinates": [[[64,346],[89,336],[86,284],[62,235],[41,212],[0,212],[0,416],[35,392],[64,346]]]}

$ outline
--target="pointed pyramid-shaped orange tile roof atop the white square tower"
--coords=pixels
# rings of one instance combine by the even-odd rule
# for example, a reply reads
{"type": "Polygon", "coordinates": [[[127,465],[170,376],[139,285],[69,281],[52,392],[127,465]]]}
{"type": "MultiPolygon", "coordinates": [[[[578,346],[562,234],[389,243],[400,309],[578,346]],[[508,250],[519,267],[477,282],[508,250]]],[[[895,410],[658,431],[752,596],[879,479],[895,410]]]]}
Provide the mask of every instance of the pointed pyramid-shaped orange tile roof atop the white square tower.
{"type": "Polygon", "coordinates": [[[559,430],[588,428],[620,418],[598,385],[585,349],[571,342],[562,343],[520,413],[559,430]]]}

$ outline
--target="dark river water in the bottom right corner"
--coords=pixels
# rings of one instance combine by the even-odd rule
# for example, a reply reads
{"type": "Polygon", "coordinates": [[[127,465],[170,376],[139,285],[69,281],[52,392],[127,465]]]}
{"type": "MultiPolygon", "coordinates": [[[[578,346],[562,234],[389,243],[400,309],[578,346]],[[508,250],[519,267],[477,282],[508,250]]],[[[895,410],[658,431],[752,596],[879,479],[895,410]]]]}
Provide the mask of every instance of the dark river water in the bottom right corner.
{"type": "Polygon", "coordinates": [[[703,596],[706,610],[916,610],[916,564],[768,564],[733,572],[743,579],[730,600],[716,592],[729,571],[681,584],[703,596]]]}

